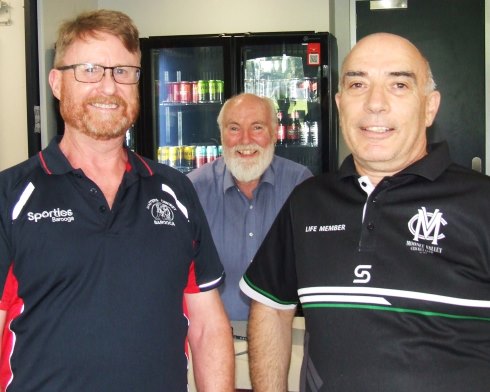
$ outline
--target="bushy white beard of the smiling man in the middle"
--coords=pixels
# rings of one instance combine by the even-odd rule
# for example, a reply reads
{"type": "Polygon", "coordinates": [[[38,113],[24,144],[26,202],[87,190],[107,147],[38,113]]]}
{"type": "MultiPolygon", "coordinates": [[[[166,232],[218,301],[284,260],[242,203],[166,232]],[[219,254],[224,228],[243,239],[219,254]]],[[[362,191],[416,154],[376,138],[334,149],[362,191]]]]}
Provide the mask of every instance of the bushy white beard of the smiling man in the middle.
{"type": "Polygon", "coordinates": [[[237,145],[232,148],[223,146],[223,159],[231,172],[240,182],[250,182],[258,180],[267,170],[274,157],[274,144],[269,144],[263,148],[257,144],[237,145]],[[235,156],[236,151],[257,150],[258,156],[254,159],[240,158],[235,156]]]}

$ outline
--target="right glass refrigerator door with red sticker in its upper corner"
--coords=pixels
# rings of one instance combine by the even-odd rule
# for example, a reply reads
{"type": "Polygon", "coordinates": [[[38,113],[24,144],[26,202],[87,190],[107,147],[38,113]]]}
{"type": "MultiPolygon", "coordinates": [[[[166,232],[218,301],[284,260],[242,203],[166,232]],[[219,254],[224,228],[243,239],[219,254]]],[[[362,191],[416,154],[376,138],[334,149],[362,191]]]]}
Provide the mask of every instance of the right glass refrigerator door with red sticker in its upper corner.
{"type": "Polygon", "coordinates": [[[320,39],[280,36],[244,38],[240,48],[243,91],[273,99],[278,110],[276,154],[314,174],[323,171],[320,108],[322,84],[328,83],[321,50],[320,39]]]}

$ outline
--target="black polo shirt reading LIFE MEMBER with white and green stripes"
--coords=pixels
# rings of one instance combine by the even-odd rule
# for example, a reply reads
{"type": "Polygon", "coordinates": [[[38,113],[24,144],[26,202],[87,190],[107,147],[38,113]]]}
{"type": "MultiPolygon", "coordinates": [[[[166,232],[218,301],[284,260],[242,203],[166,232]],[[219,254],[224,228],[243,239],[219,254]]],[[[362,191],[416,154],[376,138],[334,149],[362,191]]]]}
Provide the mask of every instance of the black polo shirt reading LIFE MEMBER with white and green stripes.
{"type": "Polygon", "coordinates": [[[240,285],[301,302],[302,391],[486,392],[490,180],[442,144],[367,197],[349,157],[296,188],[240,285]]]}

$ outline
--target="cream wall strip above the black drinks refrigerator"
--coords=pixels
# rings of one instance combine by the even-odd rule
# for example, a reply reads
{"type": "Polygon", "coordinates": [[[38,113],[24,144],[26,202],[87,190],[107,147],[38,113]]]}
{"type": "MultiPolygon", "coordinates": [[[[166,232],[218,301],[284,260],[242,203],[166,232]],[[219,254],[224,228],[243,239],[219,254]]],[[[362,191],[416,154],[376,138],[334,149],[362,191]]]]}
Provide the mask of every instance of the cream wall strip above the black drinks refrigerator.
{"type": "Polygon", "coordinates": [[[99,0],[127,13],[142,37],[247,31],[328,31],[330,0],[99,0]],[[307,6],[306,6],[307,4],[307,6]]]}

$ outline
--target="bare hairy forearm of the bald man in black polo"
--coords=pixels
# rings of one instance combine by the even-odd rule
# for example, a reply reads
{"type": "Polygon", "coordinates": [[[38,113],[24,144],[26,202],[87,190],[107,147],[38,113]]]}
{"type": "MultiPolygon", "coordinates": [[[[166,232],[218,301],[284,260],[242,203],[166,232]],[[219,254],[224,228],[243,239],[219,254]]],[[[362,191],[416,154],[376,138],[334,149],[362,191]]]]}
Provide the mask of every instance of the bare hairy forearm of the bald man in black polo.
{"type": "Polygon", "coordinates": [[[287,391],[295,312],[295,309],[278,310],[252,300],[248,357],[254,392],[287,391]]]}

